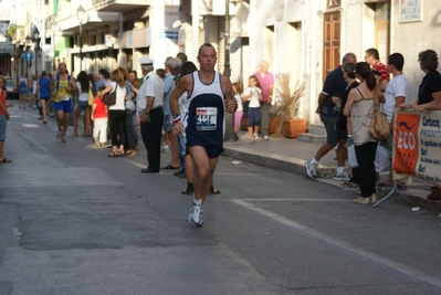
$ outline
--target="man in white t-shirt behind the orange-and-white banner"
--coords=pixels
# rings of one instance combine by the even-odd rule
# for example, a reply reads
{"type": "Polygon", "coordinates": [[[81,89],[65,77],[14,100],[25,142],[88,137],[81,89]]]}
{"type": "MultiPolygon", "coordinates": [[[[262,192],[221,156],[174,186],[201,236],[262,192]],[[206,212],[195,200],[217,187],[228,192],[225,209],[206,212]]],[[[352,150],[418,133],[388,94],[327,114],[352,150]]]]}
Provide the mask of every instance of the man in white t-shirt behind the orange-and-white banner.
{"type": "MultiPolygon", "coordinates": [[[[402,67],[405,65],[405,57],[401,53],[392,53],[388,57],[387,70],[390,74],[392,74],[392,78],[387,84],[385,89],[385,104],[381,105],[381,112],[386,114],[389,126],[390,126],[390,135],[388,138],[387,145],[385,143],[380,143],[382,147],[387,146],[387,150],[390,156],[388,156],[385,160],[391,160],[391,149],[392,149],[392,138],[393,138],[393,109],[398,108],[401,104],[405,103],[406,97],[409,95],[409,84],[405,75],[402,74],[402,67]]],[[[381,147],[381,148],[382,148],[381,147]]],[[[380,148],[380,147],[379,147],[380,148]]],[[[378,156],[378,149],[377,149],[378,156]]],[[[385,167],[385,164],[381,164],[376,158],[376,170],[378,170],[378,166],[385,167]]],[[[379,187],[390,187],[392,186],[392,168],[390,165],[389,176],[382,182],[378,185],[379,187]]],[[[405,188],[403,183],[399,185],[398,188],[405,188]]]]}

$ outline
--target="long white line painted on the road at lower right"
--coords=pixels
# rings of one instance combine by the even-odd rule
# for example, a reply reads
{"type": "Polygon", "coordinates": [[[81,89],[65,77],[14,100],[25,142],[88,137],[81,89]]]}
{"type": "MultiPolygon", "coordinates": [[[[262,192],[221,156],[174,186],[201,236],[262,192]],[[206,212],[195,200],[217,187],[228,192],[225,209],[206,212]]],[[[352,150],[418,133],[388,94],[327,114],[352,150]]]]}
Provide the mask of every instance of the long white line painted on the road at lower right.
{"type": "Polygon", "coordinates": [[[381,265],[384,265],[384,266],[386,266],[388,268],[395,270],[395,271],[397,271],[399,273],[402,273],[405,275],[408,275],[410,277],[413,277],[416,280],[419,280],[421,282],[424,282],[427,284],[430,284],[432,286],[441,288],[441,280],[439,280],[438,277],[424,274],[424,273],[422,273],[420,271],[410,268],[410,267],[405,266],[405,265],[402,265],[400,263],[397,263],[397,262],[393,262],[391,260],[381,257],[381,256],[379,256],[377,254],[374,254],[371,252],[355,247],[351,244],[348,244],[348,243],[343,242],[340,240],[334,239],[334,238],[332,238],[332,236],[329,236],[327,234],[324,234],[324,233],[318,232],[316,230],[309,229],[309,228],[307,228],[305,225],[302,225],[302,224],[300,224],[300,223],[297,223],[295,221],[288,220],[288,219],[282,217],[282,215],[279,215],[279,214],[273,213],[271,211],[267,211],[267,210],[264,210],[262,208],[255,207],[255,206],[253,206],[253,204],[251,204],[249,202],[245,202],[243,200],[231,200],[231,201],[237,203],[237,204],[239,204],[239,206],[242,206],[242,207],[244,207],[244,208],[246,208],[246,209],[249,209],[251,211],[254,211],[254,212],[256,212],[256,213],[259,213],[261,215],[264,215],[264,217],[270,218],[270,219],[272,219],[274,221],[283,223],[283,224],[285,224],[285,225],[287,225],[290,228],[293,228],[293,229],[295,229],[295,230],[297,230],[300,232],[303,232],[303,233],[305,233],[305,234],[307,234],[309,236],[313,236],[315,239],[322,240],[325,243],[335,245],[335,246],[337,246],[337,247],[339,247],[342,250],[351,252],[351,253],[354,253],[354,254],[356,254],[358,256],[361,256],[361,257],[364,257],[366,260],[372,261],[372,262],[375,262],[377,264],[381,264],[381,265]]]}

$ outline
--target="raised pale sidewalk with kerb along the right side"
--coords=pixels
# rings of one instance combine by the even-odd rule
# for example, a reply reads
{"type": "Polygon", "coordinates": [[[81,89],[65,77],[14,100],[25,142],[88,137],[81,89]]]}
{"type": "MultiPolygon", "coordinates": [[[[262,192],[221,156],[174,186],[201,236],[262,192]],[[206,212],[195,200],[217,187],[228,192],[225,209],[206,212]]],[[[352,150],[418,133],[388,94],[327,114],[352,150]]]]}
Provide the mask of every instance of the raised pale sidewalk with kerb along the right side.
{"type": "MultiPolygon", "coordinates": [[[[224,143],[223,155],[233,159],[245,160],[293,172],[304,176],[305,180],[309,180],[305,170],[305,161],[311,159],[321,146],[322,144],[304,143],[298,139],[290,139],[282,136],[270,136],[270,140],[260,138],[258,141],[250,141],[246,133],[240,131],[238,141],[224,143]]],[[[334,158],[335,152],[330,151],[321,159],[317,170],[317,180],[330,186],[340,187],[342,181],[335,181],[333,179],[337,164],[334,158]]],[[[385,179],[386,175],[387,173],[381,173],[381,179],[385,179]]],[[[314,180],[311,181],[312,186],[314,186],[314,180]]],[[[400,193],[406,196],[413,206],[441,212],[441,201],[432,201],[426,198],[430,192],[431,183],[412,178],[408,185],[408,190],[400,191],[400,193]]],[[[357,192],[356,189],[340,188],[354,190],[355,193],[357,192]]],[[[389,191],[390,189],[377,189],[377,196],[382,198],[382,196],[386,196],[389,191]]],[[[391,199],[403,201],[398,193],[393,193],[391,199]]],[[[379,204],[379,207],[381,207],[381,204],[379,204]]]]}

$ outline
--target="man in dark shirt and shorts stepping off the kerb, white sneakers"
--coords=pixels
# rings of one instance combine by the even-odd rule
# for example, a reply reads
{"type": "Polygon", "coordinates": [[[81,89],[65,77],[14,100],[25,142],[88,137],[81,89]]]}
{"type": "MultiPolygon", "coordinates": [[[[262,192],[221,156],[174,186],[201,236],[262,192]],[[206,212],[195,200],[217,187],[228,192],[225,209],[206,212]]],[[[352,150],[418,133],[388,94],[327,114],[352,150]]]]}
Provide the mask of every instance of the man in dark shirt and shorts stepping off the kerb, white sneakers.
{"type": "Polygon", "coordinates": [[[346,53],[342,59],[342,65],[337,66],[325,80],[325,85],[318,95],[318,106],[316,113],[319,114],[321,120],[326,129],[326,143],[319,147],[315,156],[307,160],[306,173],[313,178],[317,178],[318,161],[328,154],[337,144],[337,172],[334,180],[349,181],[350,177],[345,172],[346,161],[346,131],[340,131],[336,126],[336,120],[340,112],[338,105],[335,104],[345,95],[347,82],[343,77],[343,67],[347,63],[356,63],[357,57],[354,53],[346,53]],[[337,99],[338,98],[338,99],[337,99]]]}

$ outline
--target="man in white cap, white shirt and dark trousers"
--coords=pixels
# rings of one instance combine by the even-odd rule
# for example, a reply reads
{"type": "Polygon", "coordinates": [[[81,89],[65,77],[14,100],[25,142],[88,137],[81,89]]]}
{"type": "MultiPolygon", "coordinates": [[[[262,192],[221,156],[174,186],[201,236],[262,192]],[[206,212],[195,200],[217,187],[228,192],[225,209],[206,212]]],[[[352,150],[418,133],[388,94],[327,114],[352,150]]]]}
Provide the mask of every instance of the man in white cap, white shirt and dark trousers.
{"type": "Polygon", "coordinates": [[[154,60],[140,56],[144,82],[137,94],[136,112],[140,119],[140,134],[147,149],[148,166],[141,173],[157,173],[160,169],[160,139],[164,123],[164,83],[156,75],[154,60]]]}

